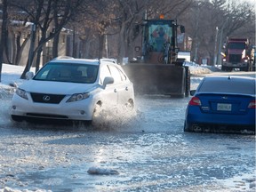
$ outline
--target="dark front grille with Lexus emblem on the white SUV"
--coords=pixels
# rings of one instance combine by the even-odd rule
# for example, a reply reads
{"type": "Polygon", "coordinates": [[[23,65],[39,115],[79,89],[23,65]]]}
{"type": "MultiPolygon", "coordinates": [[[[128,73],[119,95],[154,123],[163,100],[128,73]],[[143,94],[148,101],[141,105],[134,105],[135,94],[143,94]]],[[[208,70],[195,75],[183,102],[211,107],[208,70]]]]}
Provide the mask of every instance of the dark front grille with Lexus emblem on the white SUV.
{"type": "Polygon", "coordinates": [[[51,103],[51,104],[59,104],[60,101],[63,100],[63,98],[65,97],[65,95],[36,93],[36,92],[31,92],[30,94],[34,102],[51,103]]]}

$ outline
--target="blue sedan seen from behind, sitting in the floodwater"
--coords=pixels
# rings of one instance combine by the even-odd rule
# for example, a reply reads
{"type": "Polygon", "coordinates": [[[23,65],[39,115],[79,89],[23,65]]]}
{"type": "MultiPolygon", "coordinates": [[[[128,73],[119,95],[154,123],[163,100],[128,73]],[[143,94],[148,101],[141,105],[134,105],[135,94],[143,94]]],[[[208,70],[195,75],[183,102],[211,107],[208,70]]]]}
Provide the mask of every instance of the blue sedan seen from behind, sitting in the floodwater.
{"type": "Polygon", "coordinates": [[[207,76],[188,102],[184,132],[255,134],[255,78],[207,76]]]}

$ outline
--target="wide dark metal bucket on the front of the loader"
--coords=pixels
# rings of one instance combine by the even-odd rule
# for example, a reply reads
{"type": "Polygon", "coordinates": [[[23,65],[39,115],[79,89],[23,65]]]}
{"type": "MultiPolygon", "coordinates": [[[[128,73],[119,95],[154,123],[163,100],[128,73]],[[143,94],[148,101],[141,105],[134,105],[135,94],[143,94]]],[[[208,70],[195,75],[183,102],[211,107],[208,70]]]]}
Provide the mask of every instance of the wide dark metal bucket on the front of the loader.
{"type": "Polygon", "coordinates": [[[122,67],[133,83],[135,94],[188,96],[188,70],[185,67],[143,63],[129,63],[122,67]]]}

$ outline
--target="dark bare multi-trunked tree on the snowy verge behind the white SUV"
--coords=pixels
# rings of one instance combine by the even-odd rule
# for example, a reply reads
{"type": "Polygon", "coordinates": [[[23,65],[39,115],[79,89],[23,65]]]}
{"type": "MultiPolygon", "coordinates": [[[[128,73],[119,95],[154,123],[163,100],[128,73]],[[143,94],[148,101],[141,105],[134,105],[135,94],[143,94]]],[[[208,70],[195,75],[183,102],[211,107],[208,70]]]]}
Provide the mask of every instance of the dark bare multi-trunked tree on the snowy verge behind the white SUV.
{"type": "Polygon", "coordinates": [[[33,0],[32,2],[13,2],[12,6],[17,7],[22,12],[26,12],[28,20],[32,23],[28,62],[20,78],[25,78],[26,73],[32,66],[35,56],[37,56],[36,71],[39,69],[41,52],[43,50],[42,47],[47,41],[60,34],[61,28],[67,24],[68,20],[75,14],[76,7],[82,2],[83,0],[33,0]],[[52,29],[51,33],[48,33],[49,29],[52,28],[54,16],[54,30],[52,29]],[[56,19],[56,17],[58,18],[56,19]],[[36,46],[36,34],[38,34],[39,31],[40,36],[36,46]]]}

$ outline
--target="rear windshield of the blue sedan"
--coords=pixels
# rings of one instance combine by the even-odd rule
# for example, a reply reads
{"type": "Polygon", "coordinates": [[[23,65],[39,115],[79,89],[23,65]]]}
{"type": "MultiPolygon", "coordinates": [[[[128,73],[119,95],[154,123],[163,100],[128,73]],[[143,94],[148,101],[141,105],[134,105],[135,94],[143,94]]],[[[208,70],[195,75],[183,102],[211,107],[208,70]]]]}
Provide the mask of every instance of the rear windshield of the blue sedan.
{"type": "Polygon", "coordinates": [[[255,95],[255,80],[252,79],[205,79],[198,92],[221,92],[255,95]]]}

